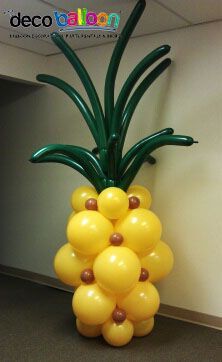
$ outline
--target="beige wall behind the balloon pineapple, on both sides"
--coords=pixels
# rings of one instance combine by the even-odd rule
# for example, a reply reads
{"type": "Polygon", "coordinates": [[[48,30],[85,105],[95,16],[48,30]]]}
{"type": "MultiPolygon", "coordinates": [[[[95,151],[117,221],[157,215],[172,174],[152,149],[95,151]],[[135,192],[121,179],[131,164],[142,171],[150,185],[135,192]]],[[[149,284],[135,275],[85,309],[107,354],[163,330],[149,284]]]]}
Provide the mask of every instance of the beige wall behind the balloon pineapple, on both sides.
{"type": "MultiPolygon", "coordinates": [[[[190,148],[160,149],[157,165],[144,165],[138,182],[150,188],[163,239],[175,254],[173,272],[159,284],[162,302],[217,316],[222,316],[221,32],[217,22],[133,39],[117,81],[118,90],[149,51],[165,43],[172,46],[173,64],[142,99],[127,146],[168,126],[199,141],[190,148]]],[[[112,48],[78,52],[101,96],[112,48]]],[[[48,57],[46,67],[82,91],[62,56],[48,57]]],[[[65,166],[32,165],[27,159],[47,143],[91,148],[93,142],[71,101],[50,87],[3,105],[1,118],[0,263],[53,275],[53,256],[65,242],[69,196],[85,181],[65,166]]]]}

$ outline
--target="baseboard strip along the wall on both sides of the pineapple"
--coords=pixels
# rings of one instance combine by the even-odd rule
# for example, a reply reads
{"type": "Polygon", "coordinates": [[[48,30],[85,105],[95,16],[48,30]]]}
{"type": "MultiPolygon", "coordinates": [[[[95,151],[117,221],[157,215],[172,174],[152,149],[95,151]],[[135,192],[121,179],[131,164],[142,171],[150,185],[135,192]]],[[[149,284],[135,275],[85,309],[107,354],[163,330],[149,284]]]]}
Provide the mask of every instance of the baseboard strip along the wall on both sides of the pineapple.
{"type": "MultiPolygon", "coordinates": [[[[31,271],[13,268],[0,264],[0,273],[21,279],[30,280],[38,284],[61,289],[64,291],[73,292],[72,287],[66,286],[65,284],[61,283],[58,279],[48,277],[42,274],[33,273],[31,271]]],[[[160,305],[158,314],[222,330],[222,318],[210,314],[174,307],[167,304],[160,305]]]]}

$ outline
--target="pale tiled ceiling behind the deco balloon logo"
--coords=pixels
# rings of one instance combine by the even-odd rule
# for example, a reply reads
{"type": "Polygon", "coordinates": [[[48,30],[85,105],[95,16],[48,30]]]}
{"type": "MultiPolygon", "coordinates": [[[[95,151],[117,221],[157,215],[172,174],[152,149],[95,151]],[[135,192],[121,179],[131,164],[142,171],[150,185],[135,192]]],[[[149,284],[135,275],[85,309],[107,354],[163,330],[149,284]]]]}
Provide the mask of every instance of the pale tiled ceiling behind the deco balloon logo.
{"type": "MultiPolygon", "coordinates": [[[[12,27],[10,14],[30,17],[39,15],[53,17],[53,11],[77,11],[86,7],[88,11],[119,13],[119,34],[136,0],[1,0],[0,2],[0,42],[26,49],[42,55],[59,53],[52,43],[50,33],[58,30],[55,22],[51,27],[12,27]]],[[[176,28],[222,20],[222,0],[147,0],[146,9],[137,25],[133,36],[163,32],[176,28]]],[[[104,31],[79,31],[68,34],[67,41],[73,49],[81,49],[114,41],[104,31]],[[87,38],[92,34],[90,38],[87,38]],[[70,37],[72,36],[72,37],[70,37]],[[86,38],[85,38],[86,37],[86,38]]]]}

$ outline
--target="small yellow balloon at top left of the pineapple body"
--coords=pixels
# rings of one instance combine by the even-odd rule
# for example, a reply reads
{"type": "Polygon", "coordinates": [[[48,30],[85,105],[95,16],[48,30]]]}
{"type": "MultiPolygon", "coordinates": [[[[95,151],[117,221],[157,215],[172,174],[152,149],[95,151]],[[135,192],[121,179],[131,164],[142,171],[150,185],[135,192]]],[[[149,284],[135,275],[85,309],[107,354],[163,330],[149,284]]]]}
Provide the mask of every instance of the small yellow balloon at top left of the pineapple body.
{"type": "Polygon", "coordinates": [[[98,198],[98,194],[92,186],[80,186],[74,190],[71,197],[71,205],[76,212],[85,210],[85,202],[88,199],[98,198]]]}

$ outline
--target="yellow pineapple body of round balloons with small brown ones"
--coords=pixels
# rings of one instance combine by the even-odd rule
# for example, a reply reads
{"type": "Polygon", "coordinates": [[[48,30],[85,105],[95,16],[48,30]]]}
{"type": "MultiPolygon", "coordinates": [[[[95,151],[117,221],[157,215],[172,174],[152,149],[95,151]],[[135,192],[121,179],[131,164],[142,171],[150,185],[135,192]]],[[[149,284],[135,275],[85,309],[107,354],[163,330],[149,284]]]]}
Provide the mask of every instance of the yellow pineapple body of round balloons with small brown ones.
{"type": "Polygon", "coordinates": [[[150,204],[149,191],[139,185],[127,192],[109,187],[99,195],[90,186],[73,192],[68,243],[54,267],[64,283],[77,287],[72,306],[80,334],[102,334],[123,346],[151,332],[160,303],[153,283],[170,272],[173,253],[161,241],[150,204]]]}

